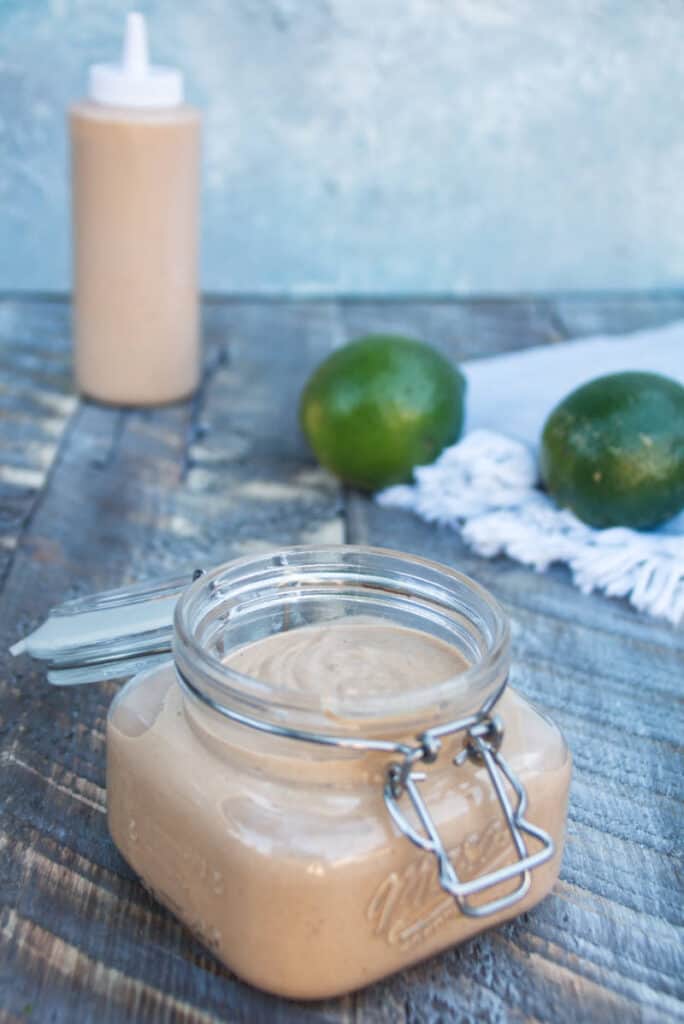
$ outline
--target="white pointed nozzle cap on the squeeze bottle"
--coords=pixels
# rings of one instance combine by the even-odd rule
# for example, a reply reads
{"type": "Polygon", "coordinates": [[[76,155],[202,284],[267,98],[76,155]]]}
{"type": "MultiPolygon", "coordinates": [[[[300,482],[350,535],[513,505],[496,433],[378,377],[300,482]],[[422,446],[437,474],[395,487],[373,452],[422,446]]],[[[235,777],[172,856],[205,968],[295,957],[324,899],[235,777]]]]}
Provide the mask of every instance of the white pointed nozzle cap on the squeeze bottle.
{"type": "Polygon", "coordinates": [[[175,68],[149,63],[147,28],[137,12],[126,15],[120,65],[93,65],[88,92],[108,106],[177,106],[183,101],[183,77],[175,68]]]}

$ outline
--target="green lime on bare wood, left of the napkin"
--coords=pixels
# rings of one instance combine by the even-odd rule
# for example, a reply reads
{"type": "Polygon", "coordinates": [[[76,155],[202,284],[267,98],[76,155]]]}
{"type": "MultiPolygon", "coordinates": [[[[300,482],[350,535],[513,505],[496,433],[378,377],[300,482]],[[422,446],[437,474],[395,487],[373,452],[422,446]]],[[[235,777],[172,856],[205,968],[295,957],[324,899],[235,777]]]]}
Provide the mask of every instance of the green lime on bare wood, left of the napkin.
{"type": "Polygon", "coordinates": [[[465,380],[429,345],[369,335],[333,352],[309,378],[299,414],[318,462],[376,490],[409,480],[463,428],[465,380]]]}

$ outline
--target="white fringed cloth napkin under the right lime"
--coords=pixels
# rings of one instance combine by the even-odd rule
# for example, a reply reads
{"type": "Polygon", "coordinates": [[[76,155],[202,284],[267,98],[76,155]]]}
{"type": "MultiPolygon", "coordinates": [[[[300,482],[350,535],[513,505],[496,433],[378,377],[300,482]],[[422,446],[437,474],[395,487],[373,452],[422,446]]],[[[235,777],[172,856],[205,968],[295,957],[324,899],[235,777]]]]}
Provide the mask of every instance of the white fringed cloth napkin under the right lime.
{"type": "Polygon", "coordinates": [[[656,530],[594,529],[538,487],[546,417],[575,387],[603,374],[647,370],[684,384],[684,322],[622,337],[594,337],[474,359],[463,440],[414,484],[380,492],[380,505],[411,509],[460,530],[485,557],[505,553],[538,571],[565,562],[578,587],[627,597],[672,623],[684,617],[684,513],[656,530]]]}

